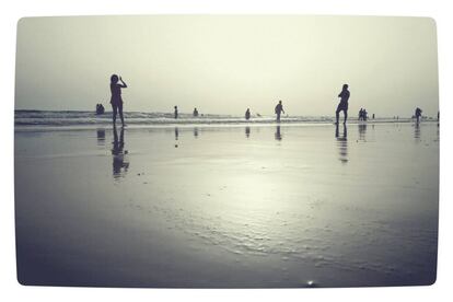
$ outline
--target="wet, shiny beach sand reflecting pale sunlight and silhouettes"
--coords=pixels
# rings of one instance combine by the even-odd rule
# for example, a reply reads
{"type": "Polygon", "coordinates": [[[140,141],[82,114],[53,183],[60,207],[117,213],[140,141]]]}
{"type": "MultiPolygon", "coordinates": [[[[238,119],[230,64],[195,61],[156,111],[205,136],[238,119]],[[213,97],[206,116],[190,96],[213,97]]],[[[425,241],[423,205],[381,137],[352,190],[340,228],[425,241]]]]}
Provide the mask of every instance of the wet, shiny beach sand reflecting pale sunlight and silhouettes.
{"type": "Polygon", "coordinates": [[[15,131],[19,281],[430,284],[435,123],[15,131]]]}

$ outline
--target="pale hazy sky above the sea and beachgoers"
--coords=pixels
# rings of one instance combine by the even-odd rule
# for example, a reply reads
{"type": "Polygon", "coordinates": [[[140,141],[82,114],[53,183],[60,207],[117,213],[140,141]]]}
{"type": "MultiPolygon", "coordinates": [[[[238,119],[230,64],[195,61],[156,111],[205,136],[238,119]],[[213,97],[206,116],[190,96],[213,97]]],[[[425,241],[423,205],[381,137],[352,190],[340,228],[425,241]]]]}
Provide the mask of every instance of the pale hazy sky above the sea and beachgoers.
{"type": "Polygon", "coordinates": [[[88,16],[22,19],[16,109],[334,115],[344,83],[350,115],[438,112],[435,24],[422,18],[88,16]]]}

